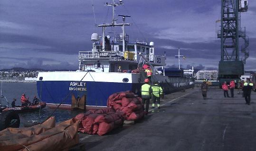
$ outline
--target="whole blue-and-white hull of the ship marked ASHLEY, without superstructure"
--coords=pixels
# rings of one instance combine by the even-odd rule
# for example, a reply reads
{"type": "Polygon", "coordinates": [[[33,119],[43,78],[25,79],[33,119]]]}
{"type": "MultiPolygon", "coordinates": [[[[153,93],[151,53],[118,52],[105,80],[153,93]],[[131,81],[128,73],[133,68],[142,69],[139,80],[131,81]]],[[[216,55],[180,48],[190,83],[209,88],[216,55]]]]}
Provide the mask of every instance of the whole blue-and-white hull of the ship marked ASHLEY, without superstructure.
{"type": "MultiPolygon", "coordinates": [[[[62,108],[71,109],[72,98],[76,107],[78,96],[85,98],[82,104],[87,107],[106,107],[108,97],[116,92],[132,91],[140,96],[143,81],[143,76],[131,73],[40,72],[37,90],[41,101],[53,108],[62,104],[62,108]]],[[[193,79],[183,77],[152,77],[151,82],[156,81],[165,94],[194,86],[193,79]]]]}

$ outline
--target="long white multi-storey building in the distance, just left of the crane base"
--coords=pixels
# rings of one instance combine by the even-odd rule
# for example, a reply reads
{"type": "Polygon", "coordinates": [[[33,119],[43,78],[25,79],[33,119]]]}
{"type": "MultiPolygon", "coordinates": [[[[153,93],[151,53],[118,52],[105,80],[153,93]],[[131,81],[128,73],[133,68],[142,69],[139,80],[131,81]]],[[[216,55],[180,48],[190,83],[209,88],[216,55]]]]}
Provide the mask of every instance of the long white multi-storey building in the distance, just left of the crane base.
{"type": "Polygon", "coordinates": [[[197,80],[217,80],[218,71],[217,70],[199,70],[196,74],[197,80]]]}

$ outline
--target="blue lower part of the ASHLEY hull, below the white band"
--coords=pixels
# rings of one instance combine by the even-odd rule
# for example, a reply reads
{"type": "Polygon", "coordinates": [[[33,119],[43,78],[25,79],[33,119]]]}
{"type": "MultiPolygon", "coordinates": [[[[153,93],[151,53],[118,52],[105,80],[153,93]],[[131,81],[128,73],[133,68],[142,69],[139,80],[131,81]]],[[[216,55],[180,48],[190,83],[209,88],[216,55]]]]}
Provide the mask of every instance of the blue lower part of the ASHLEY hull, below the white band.
{"type": "MultiPolygon", "coordinates": [[[[85,95],[86,106],[107,106],[108,97],[115,92],[132,91],[140,96],[141,83],[112,83],[112,82],[76,82],[76,81],[38,81],[38,96],[47,104],[71,105],[74,95],[85,95]],[[72,85],[72,83],[74,85],[72,85]],[[78,83],[78,84],[77,84],[78,83]],[[82,84],[79,84],[82,83],[82,84]],[[86,83],[86,84],[85,84],[86,83]]],[[[175,87],[170,83],[161,83],[165,94],[191,88],[194,84],[175,87]]]]}

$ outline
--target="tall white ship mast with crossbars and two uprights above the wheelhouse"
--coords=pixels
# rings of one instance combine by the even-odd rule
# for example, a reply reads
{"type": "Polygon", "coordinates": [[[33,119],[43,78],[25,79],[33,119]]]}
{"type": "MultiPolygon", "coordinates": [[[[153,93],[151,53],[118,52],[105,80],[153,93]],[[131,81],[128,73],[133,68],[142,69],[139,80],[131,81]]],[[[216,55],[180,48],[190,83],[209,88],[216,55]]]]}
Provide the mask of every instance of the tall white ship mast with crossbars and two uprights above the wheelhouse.
{"type": "Polygon", "coordinates": [[[115,0],[113,0],[112,4],[106,3],[105,6],[111,6],[113,9],[113,19],[112,19],[112,23],[111,24],[103,24],[103,25],[96,25],[97,27],[102,27],[102,47],[103,50],[105,49],[105,27],[114,27],[114,26],[122,26],[122,30],[123,30],[123,36],[122,36],[122,40],[123,40],[123,51],[125,50],[125,25],[132,25],[131,23],[124,23],[125,21],[125,17],[130,17],[130,16],[124,16],[124,15],[118,15],[123,17],[123,24],[116,24],[115,21],[117,21],[117,19],[115,19],[114,17],[114,11],[115,11],[115,7],[119,6],[119,5],[123,5],[123,0],[119,0],[119,3],[116,3],[115,0]]]}

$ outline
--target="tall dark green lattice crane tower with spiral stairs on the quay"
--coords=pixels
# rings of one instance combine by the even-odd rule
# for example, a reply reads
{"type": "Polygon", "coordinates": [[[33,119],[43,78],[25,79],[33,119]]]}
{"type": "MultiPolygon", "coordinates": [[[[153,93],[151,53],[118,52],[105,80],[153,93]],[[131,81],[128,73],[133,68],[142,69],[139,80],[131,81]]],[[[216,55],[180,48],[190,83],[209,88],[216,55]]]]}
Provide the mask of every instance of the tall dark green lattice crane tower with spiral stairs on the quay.
{"type": "MultiPolygon", "coordinates": [[[[246,12],[248,8],[247,0],[221,0],[221,20],[218,38],[221,40],[221,59],[218,65],[219,83],[230,80],[239,80],[244,74],[245,60],[249,57],[247,47],[249,39],[245,30],[240,28],[241,12],[246,12]],[[241,45],[241,53],[244,57],[239,58],[239,38],[244,39],[241,45]]],[[[244,28],[245,29],[245,28],[244,28]]]]}

